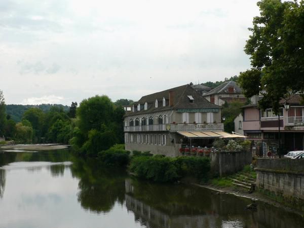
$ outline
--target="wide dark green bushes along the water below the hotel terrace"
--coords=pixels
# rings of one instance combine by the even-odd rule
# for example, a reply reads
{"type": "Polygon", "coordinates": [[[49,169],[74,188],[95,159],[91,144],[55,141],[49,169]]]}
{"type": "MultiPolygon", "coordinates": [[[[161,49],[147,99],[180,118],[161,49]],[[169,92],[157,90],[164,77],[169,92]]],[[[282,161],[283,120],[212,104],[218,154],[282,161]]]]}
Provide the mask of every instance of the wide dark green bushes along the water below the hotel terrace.
{"type": "Polygon", "coordinates": [[[185,176],[207,179],[210,171],[208,158],[164,156],[136,156],[130,163],[130,171],[138,177],[156,182],[172,182],[185,176]]]}

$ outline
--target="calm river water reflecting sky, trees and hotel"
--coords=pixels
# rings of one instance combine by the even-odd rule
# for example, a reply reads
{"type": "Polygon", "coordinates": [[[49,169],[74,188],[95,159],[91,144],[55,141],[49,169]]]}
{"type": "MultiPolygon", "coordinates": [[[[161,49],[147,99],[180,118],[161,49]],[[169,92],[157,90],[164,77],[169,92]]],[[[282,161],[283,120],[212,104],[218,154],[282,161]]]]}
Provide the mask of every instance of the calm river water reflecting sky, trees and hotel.
{"type": "Polygon", "coordinates": [[[0,227],[304,227],[304,219],[194,186],[160,185],[104,169],[68,150],[0,150],[0,227]]]}

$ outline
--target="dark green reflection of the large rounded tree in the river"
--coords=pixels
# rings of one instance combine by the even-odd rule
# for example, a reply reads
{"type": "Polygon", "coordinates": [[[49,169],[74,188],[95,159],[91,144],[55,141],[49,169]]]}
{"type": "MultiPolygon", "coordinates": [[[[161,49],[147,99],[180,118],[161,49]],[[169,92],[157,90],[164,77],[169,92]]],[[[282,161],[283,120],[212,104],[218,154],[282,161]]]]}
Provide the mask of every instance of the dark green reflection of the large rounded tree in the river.
{"type": "Polygon", "coordinates": [[[81,206],[94,213],[109,212],[113,205],[125,200],[126,172],[104,169],[96,160],[77,159],[71,167],[72,175],[78,177],[78,201],[81,206]]]}

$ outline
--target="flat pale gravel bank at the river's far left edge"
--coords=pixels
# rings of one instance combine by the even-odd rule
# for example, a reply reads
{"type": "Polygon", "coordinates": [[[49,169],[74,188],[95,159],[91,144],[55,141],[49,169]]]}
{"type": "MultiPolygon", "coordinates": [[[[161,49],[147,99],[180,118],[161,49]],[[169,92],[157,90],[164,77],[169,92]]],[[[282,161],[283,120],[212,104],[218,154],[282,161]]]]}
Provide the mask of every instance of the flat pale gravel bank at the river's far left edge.
{"type": "Polygon", "coordinates": [[[60,144],[17,144],[17,145],[3,145],[1,149],[18,149],[18,150],[54,150],[65,149],[69,145],[60,144]]]}

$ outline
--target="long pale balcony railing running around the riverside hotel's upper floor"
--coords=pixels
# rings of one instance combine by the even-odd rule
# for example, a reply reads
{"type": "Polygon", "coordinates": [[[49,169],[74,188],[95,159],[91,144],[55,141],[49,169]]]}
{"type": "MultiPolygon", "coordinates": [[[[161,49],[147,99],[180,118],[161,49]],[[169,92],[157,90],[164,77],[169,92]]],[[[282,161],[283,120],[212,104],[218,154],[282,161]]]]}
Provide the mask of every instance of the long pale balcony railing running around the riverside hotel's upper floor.
{"type": "Polygon", "coordinates": [[[125,132],[137,131],[216,131],[224,130],[224,124],[157,124],[125,126],[125,132]]]}

